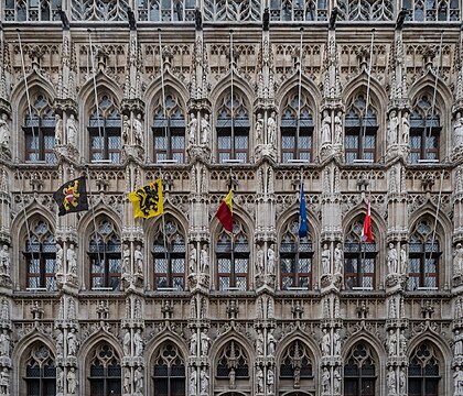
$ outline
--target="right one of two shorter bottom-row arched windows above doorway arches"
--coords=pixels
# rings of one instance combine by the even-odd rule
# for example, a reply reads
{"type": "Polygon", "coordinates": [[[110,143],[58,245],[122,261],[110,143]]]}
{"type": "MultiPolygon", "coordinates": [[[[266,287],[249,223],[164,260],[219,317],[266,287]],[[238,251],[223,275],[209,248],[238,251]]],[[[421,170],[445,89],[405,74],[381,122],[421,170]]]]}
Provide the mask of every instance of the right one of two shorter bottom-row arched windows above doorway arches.
{"type": "Polygon", "coordinates": [[[309,349],[300,341],[292,342],[281,356],[280,384],[308,386],[309,380],[313,380],[312,360],[309,349]],[[299,382],[299,384],[298,384],[299,382]]]}

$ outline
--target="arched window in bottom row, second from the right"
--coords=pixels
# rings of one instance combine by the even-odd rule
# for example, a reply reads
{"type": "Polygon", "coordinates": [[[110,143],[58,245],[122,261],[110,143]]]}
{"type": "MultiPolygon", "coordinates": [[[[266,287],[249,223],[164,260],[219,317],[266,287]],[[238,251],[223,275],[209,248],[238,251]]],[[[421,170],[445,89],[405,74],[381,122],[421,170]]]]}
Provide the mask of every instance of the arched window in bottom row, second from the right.
{"type": "Polygon", "coordinates": [[[344,396],[374,396],[376,369],[372,350],[356,344],[344,365],[344,396]]]}

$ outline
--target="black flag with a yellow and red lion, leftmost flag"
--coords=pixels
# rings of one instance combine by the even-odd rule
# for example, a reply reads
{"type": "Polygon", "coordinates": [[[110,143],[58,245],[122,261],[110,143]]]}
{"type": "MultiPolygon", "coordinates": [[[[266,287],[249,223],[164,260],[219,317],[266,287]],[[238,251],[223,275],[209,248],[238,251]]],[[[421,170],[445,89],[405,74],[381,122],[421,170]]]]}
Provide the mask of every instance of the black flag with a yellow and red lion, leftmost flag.
{"type": "Polygon", "coordinates": [[[58,206],[58,216],[88,210],[85,176],[65,183],[53,194],[53,198],[58,206]]]}

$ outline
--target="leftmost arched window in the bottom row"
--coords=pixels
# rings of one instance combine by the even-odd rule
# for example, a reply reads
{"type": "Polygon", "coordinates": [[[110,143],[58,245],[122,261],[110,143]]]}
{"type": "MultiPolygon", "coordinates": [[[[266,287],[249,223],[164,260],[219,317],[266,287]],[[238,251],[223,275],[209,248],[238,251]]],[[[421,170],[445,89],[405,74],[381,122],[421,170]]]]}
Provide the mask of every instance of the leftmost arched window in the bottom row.
{"type": "Polygon", "coordinates": [[[56,395],[56,367],[54,358],[44,344],[35,344],[25,361],[26,395],[56,395]]]}

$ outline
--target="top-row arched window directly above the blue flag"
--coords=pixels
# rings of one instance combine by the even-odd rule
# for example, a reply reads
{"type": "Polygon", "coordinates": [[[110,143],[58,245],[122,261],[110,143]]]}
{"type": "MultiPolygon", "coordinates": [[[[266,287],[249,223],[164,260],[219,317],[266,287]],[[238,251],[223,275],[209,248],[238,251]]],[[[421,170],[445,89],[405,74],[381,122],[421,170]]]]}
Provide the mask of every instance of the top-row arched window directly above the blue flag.
{"type": "Polygon", "coordinates": [[[298,94],[290,95],[281,114],[281,161],[313,158],[313,119],[309,98],[298,94]],[[300,109],[300,110],[299,110],[300,109]]]}

